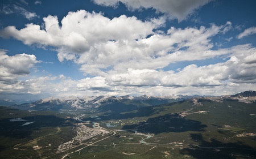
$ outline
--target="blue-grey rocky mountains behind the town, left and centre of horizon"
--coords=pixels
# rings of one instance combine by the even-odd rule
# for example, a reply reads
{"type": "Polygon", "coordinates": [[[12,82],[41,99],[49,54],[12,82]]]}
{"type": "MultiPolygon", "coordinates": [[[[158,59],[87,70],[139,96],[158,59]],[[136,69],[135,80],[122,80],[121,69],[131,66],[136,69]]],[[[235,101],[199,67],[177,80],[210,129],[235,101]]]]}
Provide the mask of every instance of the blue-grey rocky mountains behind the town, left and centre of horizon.
{"type": "Polygon", "coordinates": [[[144,106],[167,104],[170,102],[184,100],[180,96],[163,96],[163,97],[152,97],[152,96],[121,96],[121,97],[63,97],[54,98],[49,97],[42,100],[38,100],[31,103],[15,104],[11,108],[21,110],[77,110],[77,109],[89,109],[96,108],[98,111],[115,111],[122,112],[128,110],[135,110],[144,106]]]}

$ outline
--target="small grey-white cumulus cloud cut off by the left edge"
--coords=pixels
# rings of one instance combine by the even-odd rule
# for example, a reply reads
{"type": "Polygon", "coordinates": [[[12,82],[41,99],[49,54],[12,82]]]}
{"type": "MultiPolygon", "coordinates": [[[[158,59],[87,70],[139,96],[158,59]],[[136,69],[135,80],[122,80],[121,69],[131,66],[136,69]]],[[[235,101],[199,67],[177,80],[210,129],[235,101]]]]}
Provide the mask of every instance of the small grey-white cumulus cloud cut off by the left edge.
{"type": "Polygon", "coordinates": [[[30,74],[30,68],[34,67],[36,61],[35,55],[16,54],[9,56],[6,50],[0,50],[0,80],[15,80],[21,75],[30,74]]]}

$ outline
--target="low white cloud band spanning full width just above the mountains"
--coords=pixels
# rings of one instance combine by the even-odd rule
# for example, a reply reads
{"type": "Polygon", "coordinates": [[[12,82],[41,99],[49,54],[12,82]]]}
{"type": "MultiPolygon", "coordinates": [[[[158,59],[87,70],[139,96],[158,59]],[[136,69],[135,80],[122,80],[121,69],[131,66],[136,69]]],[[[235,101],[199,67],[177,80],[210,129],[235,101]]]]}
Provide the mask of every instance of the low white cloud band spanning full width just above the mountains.
{"type": "Polygon", "coordinates": [[[154,69],[110,70],[105,77],[72,80],[64,75],[42,76],[25,81],[0,82],[0,93],[30,93],[46,96],[163,96],[170,94],[234,94],[256,83],[256,49],[238,45],[221,52],[229,60],[213,65],[189,65],[180,71],[154,69]],[[246,51],[245,51],[246,50],[246,51]],[[230,54],[231,53],[231,54],[230,54]]]}

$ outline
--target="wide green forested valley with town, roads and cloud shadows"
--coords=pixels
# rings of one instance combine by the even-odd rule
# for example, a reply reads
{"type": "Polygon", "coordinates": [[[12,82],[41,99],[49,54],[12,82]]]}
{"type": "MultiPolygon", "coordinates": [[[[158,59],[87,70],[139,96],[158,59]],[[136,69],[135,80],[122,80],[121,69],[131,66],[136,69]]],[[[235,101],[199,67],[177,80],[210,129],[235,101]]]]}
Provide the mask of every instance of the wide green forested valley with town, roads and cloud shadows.
{"type": "Polygon", "coordinates": [[[65,111],[1,106],[0,158],[256,157],[255,102],[197,97],[130,109],[135,102],[125,101],[119,110],[115,102],[65,111]]]}

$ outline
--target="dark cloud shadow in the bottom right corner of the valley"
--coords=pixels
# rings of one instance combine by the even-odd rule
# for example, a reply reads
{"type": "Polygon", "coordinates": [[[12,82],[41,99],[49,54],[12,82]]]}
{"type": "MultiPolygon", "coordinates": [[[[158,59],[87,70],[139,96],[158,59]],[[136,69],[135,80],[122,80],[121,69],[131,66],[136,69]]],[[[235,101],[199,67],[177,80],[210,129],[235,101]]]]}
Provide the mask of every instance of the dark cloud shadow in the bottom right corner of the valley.
{"type": "Polygon", "coordinates": [[[241,141],[236,143],[222,143],[216,139],[205,141],[201,134],[190,134],[192,140],[197,141],[197,145],[191,148],[180,150],[181,154],[188,154],[194,158],[255,158],[256,149],[245,145],[241,141]]]}

